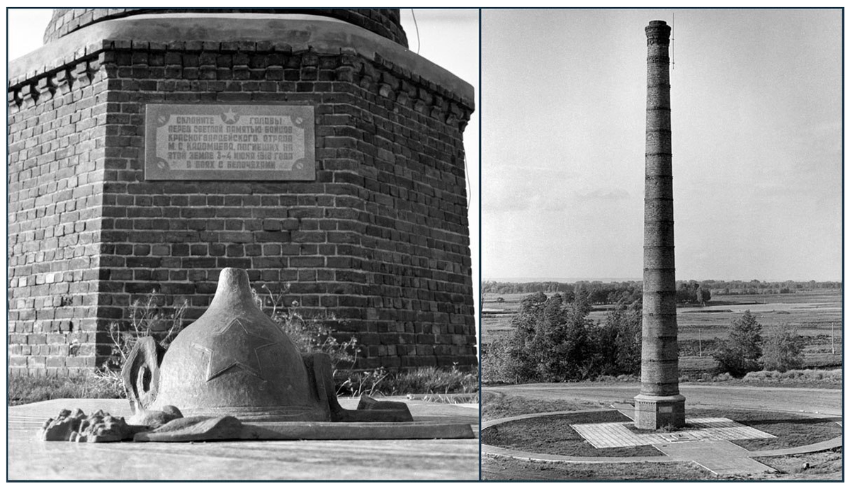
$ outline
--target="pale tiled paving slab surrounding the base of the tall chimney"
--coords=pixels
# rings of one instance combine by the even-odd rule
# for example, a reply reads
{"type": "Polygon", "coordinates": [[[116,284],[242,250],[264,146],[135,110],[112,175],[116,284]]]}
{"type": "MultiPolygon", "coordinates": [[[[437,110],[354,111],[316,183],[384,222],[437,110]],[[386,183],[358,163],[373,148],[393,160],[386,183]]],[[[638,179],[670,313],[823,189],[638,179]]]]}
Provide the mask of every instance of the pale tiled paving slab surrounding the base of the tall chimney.
{"type": "Polygon", "coordinates": [[[638,445],[670,444],[700,440],[740,440],[745,438],[774,438],[768,432],[742,425],[725,418],[687,419],[688,428],[679,432],[636,433],[626,427],[631,422],[575,424],[573,427],[593,447],[635,447],[638,445]]]}

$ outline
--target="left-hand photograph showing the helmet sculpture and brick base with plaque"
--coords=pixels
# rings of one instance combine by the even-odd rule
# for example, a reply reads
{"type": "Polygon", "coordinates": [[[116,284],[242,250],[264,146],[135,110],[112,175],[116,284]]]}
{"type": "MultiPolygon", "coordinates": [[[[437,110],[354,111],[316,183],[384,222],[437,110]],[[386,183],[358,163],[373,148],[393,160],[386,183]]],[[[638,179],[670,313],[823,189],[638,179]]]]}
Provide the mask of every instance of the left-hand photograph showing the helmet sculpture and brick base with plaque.
{"type": "Polygon", "coordinates": [[[7,25],[7,480],[479,479],[478,8],[7,25]]]}

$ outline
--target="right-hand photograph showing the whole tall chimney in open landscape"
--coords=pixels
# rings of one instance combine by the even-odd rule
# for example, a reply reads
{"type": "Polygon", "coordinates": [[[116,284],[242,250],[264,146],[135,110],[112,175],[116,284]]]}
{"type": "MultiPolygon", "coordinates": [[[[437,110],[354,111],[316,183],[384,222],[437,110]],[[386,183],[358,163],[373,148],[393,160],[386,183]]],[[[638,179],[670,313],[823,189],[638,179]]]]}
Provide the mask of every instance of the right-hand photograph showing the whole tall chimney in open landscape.
{"type": "Polygon", "coordinates": [[[485,481],[842,480],[843,31],[482,11],[485,481]]]}

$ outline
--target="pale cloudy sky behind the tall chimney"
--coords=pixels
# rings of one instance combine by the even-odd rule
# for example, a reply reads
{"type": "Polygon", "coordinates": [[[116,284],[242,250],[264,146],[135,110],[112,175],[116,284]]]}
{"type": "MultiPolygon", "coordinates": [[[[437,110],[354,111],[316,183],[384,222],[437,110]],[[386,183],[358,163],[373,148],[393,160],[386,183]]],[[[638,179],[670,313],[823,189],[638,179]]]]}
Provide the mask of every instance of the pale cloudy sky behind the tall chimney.
{"type": "Polygon", "coordinates": [[[677,280],[842,279],[842,16],[482,14],[483,279],[643,274],[646,36],[672,23],[677,280]]]}

